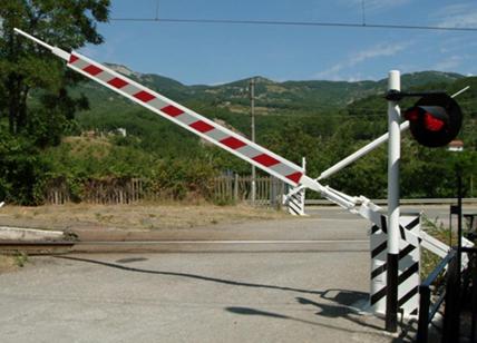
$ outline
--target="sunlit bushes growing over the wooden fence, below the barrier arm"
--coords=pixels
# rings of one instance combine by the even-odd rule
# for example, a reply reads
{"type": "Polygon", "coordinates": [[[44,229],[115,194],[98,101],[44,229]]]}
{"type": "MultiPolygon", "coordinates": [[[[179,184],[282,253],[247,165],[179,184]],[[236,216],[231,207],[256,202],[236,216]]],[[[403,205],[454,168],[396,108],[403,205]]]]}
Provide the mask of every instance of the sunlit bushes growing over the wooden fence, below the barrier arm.
{"type": "Polygon", "coordinates": [[[80,202],[87,185],[95,180],[120,183],[144,178],[146,187],[164,198],[211,197],[211,179],[216,175],[203,159],[159,158],[140,148],[123,145],[127,139],[71,137],[43,151],[46,179],[65,185],[72,200],[80,202]],[[120,145],[115,143],[120,141],[120,145]]]}

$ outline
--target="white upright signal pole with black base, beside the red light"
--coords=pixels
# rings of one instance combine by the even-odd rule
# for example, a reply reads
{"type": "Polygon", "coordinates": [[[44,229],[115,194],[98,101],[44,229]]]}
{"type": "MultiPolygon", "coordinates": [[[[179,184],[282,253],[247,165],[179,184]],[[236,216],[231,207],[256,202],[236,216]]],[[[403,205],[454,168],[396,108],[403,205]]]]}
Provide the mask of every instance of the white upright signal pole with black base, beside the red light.
{"type": "MultiPolygon", "coordinates": [[[[388,90],[401,90],[401,78],[398,70],[389,71],[388,90]]],[[[398,330],[400,115],[398,101],[388,100],[388,271],[386,282],[386,331],[388,332],[398,330]]]]}

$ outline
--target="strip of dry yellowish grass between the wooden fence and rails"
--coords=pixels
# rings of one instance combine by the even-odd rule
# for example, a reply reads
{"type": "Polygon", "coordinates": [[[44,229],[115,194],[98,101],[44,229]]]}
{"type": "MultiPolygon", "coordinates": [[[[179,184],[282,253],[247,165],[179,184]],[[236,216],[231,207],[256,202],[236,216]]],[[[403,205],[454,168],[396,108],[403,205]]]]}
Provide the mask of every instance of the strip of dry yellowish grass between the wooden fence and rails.
{"type": "Polygon", "coordinates": [[[4,206],[0,225],[46,229],[114,227],[127,229],[192,228],[286,217],[285,213],[246,205],[49,205],[4,206]]]}

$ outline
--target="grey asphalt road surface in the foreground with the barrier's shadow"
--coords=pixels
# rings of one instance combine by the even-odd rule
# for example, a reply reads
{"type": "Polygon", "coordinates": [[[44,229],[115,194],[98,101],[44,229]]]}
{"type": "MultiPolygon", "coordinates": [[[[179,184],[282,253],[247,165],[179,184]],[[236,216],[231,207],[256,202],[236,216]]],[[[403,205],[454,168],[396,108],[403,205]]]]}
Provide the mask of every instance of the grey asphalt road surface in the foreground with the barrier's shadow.
{"type": "Polygon", "coordinates": [[[334,207],[310,214],[157,233],[192,246],[183,253],[32,257],[0,277],[1,342],[401,341],[359,312],[369,224],[334,207]]]}

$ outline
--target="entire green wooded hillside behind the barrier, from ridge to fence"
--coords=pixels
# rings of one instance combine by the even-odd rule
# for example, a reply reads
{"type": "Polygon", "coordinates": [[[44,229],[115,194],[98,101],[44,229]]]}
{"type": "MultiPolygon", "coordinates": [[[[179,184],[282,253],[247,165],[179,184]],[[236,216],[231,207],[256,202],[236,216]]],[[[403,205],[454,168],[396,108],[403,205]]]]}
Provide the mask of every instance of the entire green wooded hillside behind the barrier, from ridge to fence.
{"type": "MultiPolygon", "coordinates": [[[[220,86],[186,86],[162,76],[134,72],[123,66],[113,68],[242,135],[250,135],[249,80],[220,86]]],[[[474,196],[477,78],[426,71],[405,75],[402,84],[403,89],[442,89],[449,94],[471,87],[458,98],[465,112],[459,136],[465,141],[465,153],[422,148],[409,135],[403,135],[402,196],[454,196],[457,163],[465,166],[466,195],[474,196]]],[[[256,85],[257,143],[298,164],[306,157],[310,176],[320,175],[387,130],[387,102],[382,98],[387,80],[275,82],[257,77],[256,85]]],[[[10,148],[6,150],[3,175],[18,168],[36,183],[23,185],[12,177],[3,183],[4,198],[37,204],[45,200],[43,192],[48,185],[64,185],[71,198],[79,200],[91,183],[136,177],[148,179],[149,187],[166,198],[186,198],[188,194],[210,198],[210,182],[216,175],[224,171],[250,174],[249,164],[205,145],[195,135],[106,88],[86,81],[70,91],[82,92],[89,98],[90,109],[76,115],[78,125],[71,122],[72,127],[79,128],[72,133],[82,131],[82,137],[66,137],[60,145],[32,155],[32,145],[25,145],[19,153],[17,143],[6,135],[3,145],[10,148]],[[118,128],[125,128],[127,136],[118,135],[118,128]]],[[[402,108],[410,101],[402,101],[402,108]]],[[[327,184],[349,194],[386,197],[386,166],[383,146],[331,177],[327,184]]],[[[262,175],[260,170],[259,175],[262,175]]],[[[310,193],[309,196],[318,194],[310,193]]]]}

